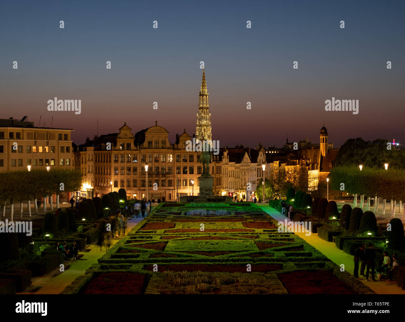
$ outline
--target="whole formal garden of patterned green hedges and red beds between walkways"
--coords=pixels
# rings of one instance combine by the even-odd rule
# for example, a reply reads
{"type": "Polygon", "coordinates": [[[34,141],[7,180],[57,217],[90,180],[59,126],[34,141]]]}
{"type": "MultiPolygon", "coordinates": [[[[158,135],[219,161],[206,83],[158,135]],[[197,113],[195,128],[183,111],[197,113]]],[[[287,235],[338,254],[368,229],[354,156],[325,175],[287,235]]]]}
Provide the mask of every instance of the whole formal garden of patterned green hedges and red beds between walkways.
{"type": "Polygon", "coordinates": [[[116,294],[374,293],[296,234],[279,233],[277,221],[251,203],[160,204],[62,294],[103,289],[116,294]]]}

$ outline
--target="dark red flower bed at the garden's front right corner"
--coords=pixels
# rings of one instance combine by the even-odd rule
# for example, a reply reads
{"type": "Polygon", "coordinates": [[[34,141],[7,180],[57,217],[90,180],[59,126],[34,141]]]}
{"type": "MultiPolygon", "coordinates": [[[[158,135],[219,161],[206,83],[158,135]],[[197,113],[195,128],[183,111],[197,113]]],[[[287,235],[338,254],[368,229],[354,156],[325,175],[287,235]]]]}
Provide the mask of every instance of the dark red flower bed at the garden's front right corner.
{"type": "Polygon", "coordinates": [[[300,270],[278,275],[290,294],[356,294],[333,273],[300,270]]]}

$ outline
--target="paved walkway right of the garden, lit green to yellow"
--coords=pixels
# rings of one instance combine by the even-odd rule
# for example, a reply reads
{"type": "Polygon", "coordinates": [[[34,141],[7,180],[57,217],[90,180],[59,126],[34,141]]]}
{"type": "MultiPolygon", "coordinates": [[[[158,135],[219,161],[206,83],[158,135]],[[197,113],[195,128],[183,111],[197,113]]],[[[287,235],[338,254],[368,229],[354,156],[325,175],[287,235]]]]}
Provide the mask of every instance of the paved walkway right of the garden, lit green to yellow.
{"type": "MultiPolygon", "coordinates": [[[[281,215],[277,210],[271,208],[269,204],[258,204],[266,213],[271,215],[275,220],[284,222],[284,219],[287,217],[281,215]]],[[[296,233],[298,236],[303,238],[309,245],[315,247],[324,254],[331,261],[335,262],[338,266],[341,264],[345,265],[345,270],[354,272],[354,259],[352,255],[345,253],[336,247],[335,243],[327,242],[322,238],[318,237],[318,234],[311,234],[310,236],[305,236],[304,233],[296,233]]],[[[353,275],[353,274],[352,274],[353,275]]],[[[362,282],[369,286],[377,294],[405,294],[405,290],[402,290],[396,285],[396,282],[389,281],[378,281],[372,282],[371,277],[369,277],[369,282],[365,280],[365,277],[362,278],[362,282]]]]}

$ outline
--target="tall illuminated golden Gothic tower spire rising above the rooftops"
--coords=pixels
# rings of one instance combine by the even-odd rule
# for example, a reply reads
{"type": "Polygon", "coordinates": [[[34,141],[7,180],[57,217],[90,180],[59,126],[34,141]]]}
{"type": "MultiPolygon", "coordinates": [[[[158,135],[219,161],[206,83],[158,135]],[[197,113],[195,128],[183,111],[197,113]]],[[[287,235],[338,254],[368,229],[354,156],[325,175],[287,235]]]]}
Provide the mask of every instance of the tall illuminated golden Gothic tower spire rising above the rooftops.
{"type": "Polygon", "coordinates": [[[198,100],[196,142],[198,140],[211,141],[211,113],[209,112],[209,101],[207,83],[205,82],[205,70],[203,69],[203,80],[198,100]]]}

